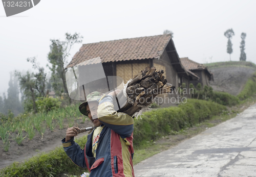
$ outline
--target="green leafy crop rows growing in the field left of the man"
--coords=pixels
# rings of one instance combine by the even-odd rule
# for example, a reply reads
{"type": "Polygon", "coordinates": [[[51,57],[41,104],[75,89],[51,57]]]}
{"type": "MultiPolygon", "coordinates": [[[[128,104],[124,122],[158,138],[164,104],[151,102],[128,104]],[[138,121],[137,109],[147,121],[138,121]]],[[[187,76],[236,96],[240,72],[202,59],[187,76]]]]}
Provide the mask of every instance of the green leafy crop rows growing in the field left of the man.
{"type": "MultiPolygon", "coordinates": [[[[12,133],[13,139],[17,143],[21,143],[20,141],[22,141],[23,138],[20,137],[20,134],[23,134],[23,130],[26,132],[25,135],[32,140],[36,131],[41,135],[42,139],[46,129],[50,129],[51,132],[53,132],[56,127],[62,130],[65,121],[68,122],[69,127],[72,127],[75,125],[75,121],[78,122],[79,116],[81,116],[81,113],[77,109],[78,105],[79,103],[48,112],[39,112],[37,114],[19,114],[16,117],[12,117],[12,119],[8,118],[5,122],[1,121],[0,136],[2,141],[5,143],[6,138],[4,133],[8,131],[12,133]],[[16,136],[15,133],[18,133],[18,136],[16,136]]],[[[83,116],[83,120],[85,119],[86,117],[83,116]]]]}

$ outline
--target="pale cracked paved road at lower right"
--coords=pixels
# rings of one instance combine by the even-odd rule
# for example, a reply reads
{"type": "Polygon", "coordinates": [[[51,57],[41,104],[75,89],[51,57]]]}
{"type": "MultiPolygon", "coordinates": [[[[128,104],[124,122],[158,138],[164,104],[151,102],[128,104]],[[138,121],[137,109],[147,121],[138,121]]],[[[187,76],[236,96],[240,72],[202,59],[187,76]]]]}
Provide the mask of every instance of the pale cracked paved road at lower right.
{"type": "Polygon", "coordinates": [[[135,176],[256,176],[256,104],[134,166],[135,176]]]}

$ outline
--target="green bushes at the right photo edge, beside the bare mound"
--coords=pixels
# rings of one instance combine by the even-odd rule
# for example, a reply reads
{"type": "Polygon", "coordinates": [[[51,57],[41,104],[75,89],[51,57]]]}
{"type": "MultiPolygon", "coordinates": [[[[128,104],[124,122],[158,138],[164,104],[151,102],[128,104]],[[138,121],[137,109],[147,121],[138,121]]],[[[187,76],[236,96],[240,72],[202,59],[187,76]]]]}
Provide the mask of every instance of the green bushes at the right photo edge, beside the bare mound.
{"type": "Polygon", "coordinates": [[[256,92],[256,72],[252,74],[252,77],[246,82],[244,89],[237,95],[241,100],[244,100],[252,96],[256,92]]]}

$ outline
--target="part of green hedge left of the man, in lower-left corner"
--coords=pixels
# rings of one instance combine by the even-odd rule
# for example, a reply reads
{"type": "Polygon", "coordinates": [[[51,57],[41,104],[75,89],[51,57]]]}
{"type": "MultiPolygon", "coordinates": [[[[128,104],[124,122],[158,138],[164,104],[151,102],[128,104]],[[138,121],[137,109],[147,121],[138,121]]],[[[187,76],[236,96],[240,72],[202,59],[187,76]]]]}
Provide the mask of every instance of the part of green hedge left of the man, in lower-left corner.
{"type": "MultiPolygon", "coordinates": [[[[87,136],[76,139],[76,142],[84,147],[87,136]]],[[[0,176],[18,177],[39,177],[39,176],[58,176],[59,173],[72,173],[79,175],[86,169],[75,165],[66,155],[62,147],[56,147],[49,153],[42,153],[34,156],[23,163],[15,162],[0,170],[0,176]]]]}

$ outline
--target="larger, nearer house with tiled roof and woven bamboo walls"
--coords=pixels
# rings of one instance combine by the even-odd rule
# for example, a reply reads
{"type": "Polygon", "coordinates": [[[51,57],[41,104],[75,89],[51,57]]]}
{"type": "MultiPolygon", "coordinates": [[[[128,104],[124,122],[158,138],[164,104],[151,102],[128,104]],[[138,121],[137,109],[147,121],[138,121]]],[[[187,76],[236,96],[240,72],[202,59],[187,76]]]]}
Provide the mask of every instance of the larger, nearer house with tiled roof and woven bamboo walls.
{"type": "Polygon", "coordinates": [[[170,35],[157,35],[83,44],[66,68],[100,57],[105,75],[117,75],[126,83],[147,66],[163,69],[168,83],[198,81],[195,73],[180,61],[170,35]]]}

